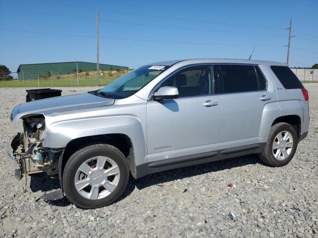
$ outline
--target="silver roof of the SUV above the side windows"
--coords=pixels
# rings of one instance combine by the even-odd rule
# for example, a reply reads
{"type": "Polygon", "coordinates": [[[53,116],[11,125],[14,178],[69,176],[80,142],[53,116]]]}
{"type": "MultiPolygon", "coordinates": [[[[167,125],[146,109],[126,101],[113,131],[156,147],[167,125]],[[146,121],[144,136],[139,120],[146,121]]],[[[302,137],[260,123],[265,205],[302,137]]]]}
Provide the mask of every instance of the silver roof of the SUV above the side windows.
{"type": "Polygon", "coordinates": [[[244,64],[266,64],[266,65],[280,65],[288,66],[286,63],[266,61],[266,60],[243,60],[243,59],[218,59],[218,58],[207,58],[207,59],[189,59],[189,60],[166,60],[155,63],[149,63],[145,65],[168,65],[182,62],[182,64],[197,64],[197,63],[244,63],[244,64]]]}

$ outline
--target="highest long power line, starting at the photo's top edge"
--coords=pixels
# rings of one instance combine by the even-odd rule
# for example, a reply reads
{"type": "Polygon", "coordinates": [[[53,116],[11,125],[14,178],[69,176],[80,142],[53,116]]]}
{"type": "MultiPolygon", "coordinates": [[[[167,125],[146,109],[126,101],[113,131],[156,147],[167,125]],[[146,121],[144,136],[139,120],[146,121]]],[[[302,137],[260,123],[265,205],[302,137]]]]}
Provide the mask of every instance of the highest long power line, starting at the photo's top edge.
{"type": "Polygon", "coordinates": [[[279,28],[279,27],[258,26],[258,25],[244,25],[244,24],[234,24],[234,23],[225,23],[225,22],[215,22],[215,21],[204,21],[204,20],[197,20],[197,19],[188,19],[188,18],[181,18],[181,17],[161,16],[161,15],[129,12],[129,11],[122,11],[122,10],[114,10],[114,9],[108,9],[108,8],[95,8],[95,7],[90,7],[90,6],[79,6],[79,5],[67,4],[67,3],[56,2],[56,1],[49,1],[49,0],[35,0],[35,1],[59,4],[59,5],[70,6],[70,7],[88,8],[88,9],[92,9],[92,10],[99,10],[99,11],[103,10],[103,11],[109,11],[109,12],[133,14],[133,15],[140,15],[140,16],[149,16],[149,17],[164,18],[164,19],[171,19],[171,20],[182,20],[182,21],[192,21],[192,22],[202,22],[202,23],[222,24],[222,25],[233,25],[233,26],[244,26],[244,27],[256,27],[256,28],[268,28],[268,29],[279,29],[279,30],[284,30],[285,29],[285,28],[279,28]]]}

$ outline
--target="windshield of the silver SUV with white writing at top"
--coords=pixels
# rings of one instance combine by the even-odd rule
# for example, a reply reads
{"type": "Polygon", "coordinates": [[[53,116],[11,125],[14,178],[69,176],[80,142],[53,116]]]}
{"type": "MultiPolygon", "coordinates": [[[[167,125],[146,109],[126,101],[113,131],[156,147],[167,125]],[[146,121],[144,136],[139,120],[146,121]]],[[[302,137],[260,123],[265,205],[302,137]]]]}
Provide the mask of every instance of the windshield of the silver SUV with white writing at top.
{"type": "Polygon", "coordinates": [[[127,98],[135,94],[167,68],[169,66],[163,65],[147,65],[136,68],[101,88],[97,93],[114,99],[127,98]]]}

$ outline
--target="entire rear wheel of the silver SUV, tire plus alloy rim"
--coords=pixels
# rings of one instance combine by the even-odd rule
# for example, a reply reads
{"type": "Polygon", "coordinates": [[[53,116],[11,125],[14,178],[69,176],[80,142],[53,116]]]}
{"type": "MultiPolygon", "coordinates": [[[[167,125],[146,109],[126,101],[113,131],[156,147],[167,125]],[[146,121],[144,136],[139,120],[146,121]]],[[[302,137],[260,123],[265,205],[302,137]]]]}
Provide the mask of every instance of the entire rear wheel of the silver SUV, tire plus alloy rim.
{"type": "Polygon", "coordinates": [[[265,164],[268,164],[273,167],[285,166],[294,157],[295,152],[297,150],[297,144],[298,144],[298,138],[297,138],[297,132],[295,128],[292,125],[285,122],[277,123],[270,128],[266,146],[264,148],[264,151],[261,154],[259,154],[259,158],[265,164]],[[280,151],[284,150],[284,144],[285,145],[290,144],[290,138],[287,140],[287,142],[285,143],[282,142],[282,144],[278,144],[277,141],[279,139],[276,138],[276,136],[278,136],[280,133],[282,133],[281,135],[284,135],[284,132],[286,131],[290,133],[290,136],[292,136],[292,142],[293,142],[292,147],[289,147],[289,148],[287,146],[285,147],[286,148],[285,150],[289,151],[288,156],[286,156],[287,152],[285,153],[285,156],[284,156],[282,154],[283,152],[280,152],[280,151]],[[275,140],[275,143],[274,143],[274,140],[275,140]],[[273,150],[273,146],[277,147],[278,149],[273,150]],[[276,157],[274,156],[274,152],[276,152],[275,153],[276,157]]]}

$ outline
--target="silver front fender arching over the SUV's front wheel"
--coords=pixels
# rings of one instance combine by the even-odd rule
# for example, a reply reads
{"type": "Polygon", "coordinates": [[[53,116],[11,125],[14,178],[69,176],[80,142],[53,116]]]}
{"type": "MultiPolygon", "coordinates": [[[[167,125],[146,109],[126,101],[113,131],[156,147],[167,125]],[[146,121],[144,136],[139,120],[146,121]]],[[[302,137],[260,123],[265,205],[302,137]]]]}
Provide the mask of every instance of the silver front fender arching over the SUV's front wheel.
{"type": "Polygon", "coordinates": [[[120,133],[132,141],[136,166],[147,162],[145,104],[138,103],[129,107],[112,105],[79,110],[77,113],[73,111],[44,116],[45,147],[64,148],[71,140],[80,137],[120,133]]]}

